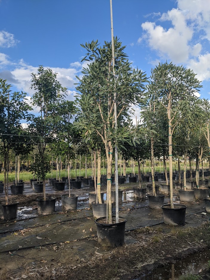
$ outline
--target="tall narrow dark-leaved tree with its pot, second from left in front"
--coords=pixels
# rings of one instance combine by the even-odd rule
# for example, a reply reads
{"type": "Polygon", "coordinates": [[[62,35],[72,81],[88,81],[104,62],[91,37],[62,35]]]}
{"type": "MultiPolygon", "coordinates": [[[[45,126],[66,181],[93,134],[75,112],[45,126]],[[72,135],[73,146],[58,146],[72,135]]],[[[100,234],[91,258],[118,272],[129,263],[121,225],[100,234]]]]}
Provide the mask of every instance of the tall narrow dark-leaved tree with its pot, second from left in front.
{"type": "Polygon", "coordinates": [[[64,100],[67,89],[61,86],[56,73],[49,68],[44,69],[42,65],[39,66],[38,73],[32,73],[31,77],[31,88],[35,90],[32,105],[39,107],[39,115],[33,119],[29,129],[32,136],[35,136],[32,140],[38,148],[35,163],[37,176],[43,181],[43,198],[37,198],[37,205],[40,214],[49,214],[55,210],[56,199],[46,198],[45,193],[45,179],[50,172],[47,149],[50,143],[56,141],[59,133],[60,116],[56,108],[64,100]]]}

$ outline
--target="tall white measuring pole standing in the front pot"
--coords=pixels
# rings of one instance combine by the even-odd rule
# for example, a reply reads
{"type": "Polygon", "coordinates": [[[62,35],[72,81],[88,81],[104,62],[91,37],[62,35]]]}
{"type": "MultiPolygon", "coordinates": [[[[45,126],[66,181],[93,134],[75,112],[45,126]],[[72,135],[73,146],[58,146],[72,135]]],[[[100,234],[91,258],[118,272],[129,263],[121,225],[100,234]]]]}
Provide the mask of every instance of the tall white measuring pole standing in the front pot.
{"type": "MultiPolygon", "coordinates": [[[[112,17],[112,0],[110,0],[110,12],[111,12],[111,45],[112,45],[112,69],[115,79],[115,59],[114,59],[114,30],[113,30],[113,17],[112,17]]],[[[116,90],[114,90],[114,123],[115,131],[117,130],[117,103],[116,103],[116,90]]],[[[117,144],[117,143],[115,143],[117,144]]],[[[118,155],[117,145],[115,145],[115,205],[116,205],[116,223],[119,223],[119,206],[118,206],[118,155]]]]}

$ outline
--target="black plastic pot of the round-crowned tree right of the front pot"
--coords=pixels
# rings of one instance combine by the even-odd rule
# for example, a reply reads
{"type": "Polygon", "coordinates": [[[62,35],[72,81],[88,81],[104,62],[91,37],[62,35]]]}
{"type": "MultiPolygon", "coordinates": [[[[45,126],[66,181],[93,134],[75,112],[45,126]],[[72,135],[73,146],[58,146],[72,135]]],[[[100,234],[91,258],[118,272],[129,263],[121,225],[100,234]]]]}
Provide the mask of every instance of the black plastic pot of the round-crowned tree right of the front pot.
{"type": "Polygon", "coordinates": [[[185,225],[185,212],[187,208],[185,205],[174,204],[174,208],[171,208],[171,204],[165,204],[161,208],[165,224],[174,226],[185,225]]]}

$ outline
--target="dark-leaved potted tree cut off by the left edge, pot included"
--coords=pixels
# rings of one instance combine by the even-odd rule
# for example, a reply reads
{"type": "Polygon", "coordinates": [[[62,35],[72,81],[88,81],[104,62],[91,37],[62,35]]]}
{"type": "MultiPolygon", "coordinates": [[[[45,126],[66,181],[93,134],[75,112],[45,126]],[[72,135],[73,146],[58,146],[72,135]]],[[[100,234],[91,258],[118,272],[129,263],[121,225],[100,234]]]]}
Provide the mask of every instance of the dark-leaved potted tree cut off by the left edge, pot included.
{"type": "MultiPolygon", "coordinates": [[[[21,120],[30,120],[31,107],[24,101],[26,94],[23,92],[11,92],[11,85],[6,80],[0,79],[0,132],[4,157],[4,192],[5,201],[0,203],[0,218],[4,220],[14,219],[17,216],[17,201],[9,201],[8,198],[8,173],[9,152],[17,147],[17,143],[24,143],[24,131],[21,120]],[[23,139],[23,140],[22,140],[23,139]]],[[[22,188],[17,186],[17,188],[22,188]]]]}

